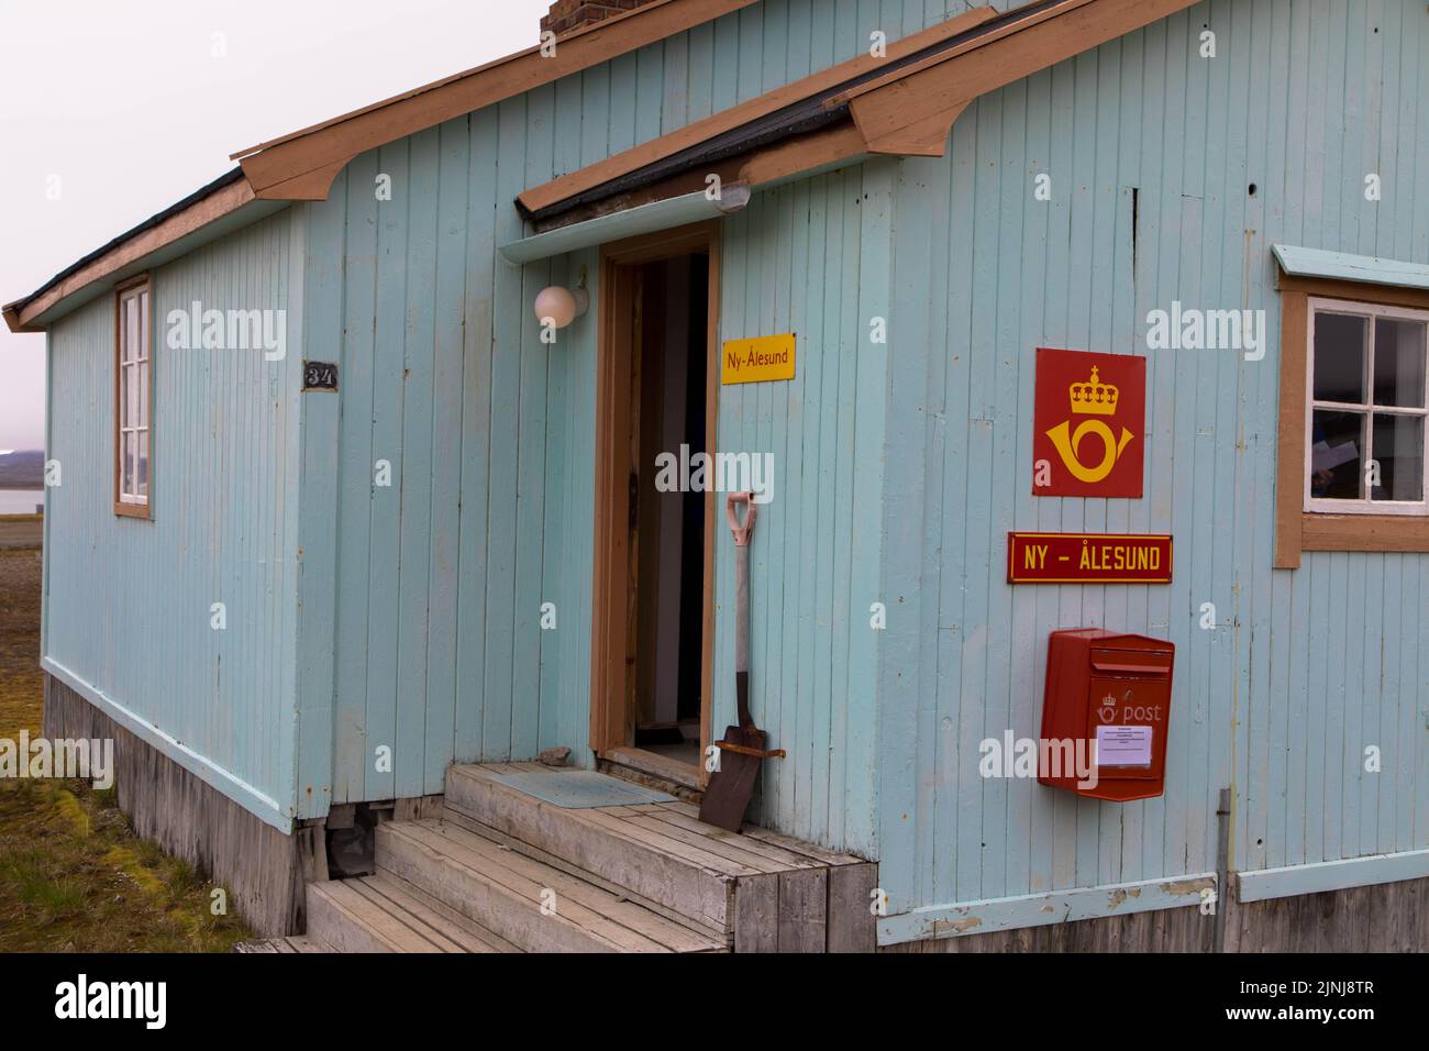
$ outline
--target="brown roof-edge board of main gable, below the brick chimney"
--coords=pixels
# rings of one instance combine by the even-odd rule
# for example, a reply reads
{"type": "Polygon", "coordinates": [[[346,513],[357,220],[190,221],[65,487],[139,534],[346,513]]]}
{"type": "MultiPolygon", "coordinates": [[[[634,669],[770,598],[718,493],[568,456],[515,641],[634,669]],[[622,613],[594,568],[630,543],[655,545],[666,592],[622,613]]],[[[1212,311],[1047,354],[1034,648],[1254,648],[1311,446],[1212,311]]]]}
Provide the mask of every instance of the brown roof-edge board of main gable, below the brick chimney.
{"type": "Polygon", "coordinates": [[[259,197],[326,199],[347,159],[444,120],[530,92],[657,40],[749,7],[756,0],[654,0],[540,47],[497,59],[320,124],[231,154],[259,197]],[[309,179],[303,179],[310,176],[309,179]]]}

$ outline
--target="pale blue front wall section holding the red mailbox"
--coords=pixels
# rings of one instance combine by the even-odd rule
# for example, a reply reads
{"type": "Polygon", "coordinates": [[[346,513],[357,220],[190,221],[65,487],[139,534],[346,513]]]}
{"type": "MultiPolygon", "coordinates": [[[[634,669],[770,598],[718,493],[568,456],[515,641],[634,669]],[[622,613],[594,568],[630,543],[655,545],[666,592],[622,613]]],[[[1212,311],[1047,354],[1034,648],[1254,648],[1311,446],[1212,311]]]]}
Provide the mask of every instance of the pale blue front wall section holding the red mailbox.
{"type": "Polygon", "coordinates": [[[1429,262],[1426,97],[1420,3],[1215,0],[983,97],[946,159],[900,163],[879,754],[892,911],[1213,869],[1228,785],[1232,868],[1429,847],[1425,558],[1270,569],[1269,252],[1429,262]],[[1173,300],[1266,310],[1265,359],[1147,352],[1145,317],[1173,300]],[[1145,499],[1030,495],[1037,346],[1147,356],[1145,499]],[[1175,583],[1012,589],[1015,528],[1173,533],[1175,583]],[[1176,643],[1163,798],[979,776],[979,741],[1036,736],[1046,636],[1073,626],[1176,643]],[[1383,772],[1365,772],[1366,745],[1383,772]]]}

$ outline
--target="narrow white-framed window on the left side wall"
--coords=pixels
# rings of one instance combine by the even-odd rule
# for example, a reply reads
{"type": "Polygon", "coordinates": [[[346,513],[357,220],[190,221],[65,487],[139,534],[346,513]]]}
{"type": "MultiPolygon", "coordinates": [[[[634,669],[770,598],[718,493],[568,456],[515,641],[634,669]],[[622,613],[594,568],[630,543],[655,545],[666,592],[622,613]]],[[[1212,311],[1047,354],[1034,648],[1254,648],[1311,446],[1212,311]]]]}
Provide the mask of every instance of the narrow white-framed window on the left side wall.
{"type": "Polygon", "coordinates": [[[114,319],[114,512],[149,518],[153,478],[150,432],[149,279],[116,293],[114,319]]]}

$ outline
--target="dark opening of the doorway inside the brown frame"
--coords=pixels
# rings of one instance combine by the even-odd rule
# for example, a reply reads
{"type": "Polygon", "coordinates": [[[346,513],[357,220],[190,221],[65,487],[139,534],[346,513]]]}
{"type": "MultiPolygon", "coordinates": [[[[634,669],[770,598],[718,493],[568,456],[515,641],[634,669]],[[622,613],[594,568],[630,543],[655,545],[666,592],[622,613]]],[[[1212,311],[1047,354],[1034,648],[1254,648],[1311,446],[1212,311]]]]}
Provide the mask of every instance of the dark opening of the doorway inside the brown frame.
{"type": "Polygon", "coordinates": [[[709,256],[644,263],[630,355],[630,632],[633,744],[676,762],[700,755],[709,256]]]}

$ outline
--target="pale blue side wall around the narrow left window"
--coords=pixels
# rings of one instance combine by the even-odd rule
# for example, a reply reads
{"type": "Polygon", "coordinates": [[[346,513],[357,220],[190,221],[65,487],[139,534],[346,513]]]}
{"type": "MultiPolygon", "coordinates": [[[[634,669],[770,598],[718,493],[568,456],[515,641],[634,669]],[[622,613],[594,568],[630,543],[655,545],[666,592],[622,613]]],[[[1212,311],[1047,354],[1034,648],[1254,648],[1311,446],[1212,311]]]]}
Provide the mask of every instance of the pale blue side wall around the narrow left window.
{"type": "MultiPolygon", "coordinates": [[[[46,658],[293,815],[296,410],[303,349],[170,349],[173,309],[284,310],[292,212],[153,272],[153,520],[113,512],[114,310],[50,332],[46,658]],[[210,628],[226,606],[227,628],[210,628]]],[[[183,765],[189,759],[174,756],[183,765]]]]}

